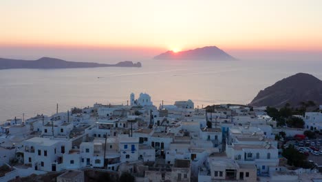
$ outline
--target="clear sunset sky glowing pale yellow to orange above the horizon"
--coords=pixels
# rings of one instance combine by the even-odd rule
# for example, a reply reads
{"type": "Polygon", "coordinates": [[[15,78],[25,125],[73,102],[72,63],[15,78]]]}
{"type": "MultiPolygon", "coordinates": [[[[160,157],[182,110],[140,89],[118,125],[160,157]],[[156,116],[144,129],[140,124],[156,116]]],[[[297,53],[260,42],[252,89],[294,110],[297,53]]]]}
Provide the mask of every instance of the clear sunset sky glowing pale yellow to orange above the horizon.
{"type": "Polygon", "coordinates": [[[321,8],[320,0],[4,0],[0,48],[321,52],[321,8]]]}

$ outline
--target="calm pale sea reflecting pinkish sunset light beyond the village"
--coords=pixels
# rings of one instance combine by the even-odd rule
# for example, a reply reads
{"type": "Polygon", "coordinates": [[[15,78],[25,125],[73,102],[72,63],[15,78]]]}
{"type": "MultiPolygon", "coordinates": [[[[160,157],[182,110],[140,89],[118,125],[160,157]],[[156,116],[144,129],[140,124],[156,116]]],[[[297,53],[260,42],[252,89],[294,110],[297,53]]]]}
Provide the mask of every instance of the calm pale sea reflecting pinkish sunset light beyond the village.
{"type": "Polygon", "coordinates": [[[142,68],[0,70],[0,121],[94,103],[127,104],[129,94],[192,99],[195,106],[249,103],[259,90],[297,72],[322,79],[322,61],[142,61],[142,68]],[[98,79],[100,77],[100,79],[98,79]]]}

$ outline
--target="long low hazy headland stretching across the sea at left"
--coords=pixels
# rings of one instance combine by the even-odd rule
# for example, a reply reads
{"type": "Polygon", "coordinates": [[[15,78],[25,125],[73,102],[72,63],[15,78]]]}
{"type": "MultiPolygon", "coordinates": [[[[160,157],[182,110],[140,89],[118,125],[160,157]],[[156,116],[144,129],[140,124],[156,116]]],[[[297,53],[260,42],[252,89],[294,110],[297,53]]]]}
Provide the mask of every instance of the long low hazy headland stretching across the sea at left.
{"type": "Polygon", "coordinates": [[[98,68],[98,67],[142,67],[142,64],[140,62],[133,63],[132,61],[122,61],[116,64],[73,62],[73,61],[64,61],[62,59],[55,59],[50,57],[43,57],[41,59],[37,59],[33,61],[0,58],[0,70],[19,69],[19,68],[58,69],[58,68],[98,68]]]}

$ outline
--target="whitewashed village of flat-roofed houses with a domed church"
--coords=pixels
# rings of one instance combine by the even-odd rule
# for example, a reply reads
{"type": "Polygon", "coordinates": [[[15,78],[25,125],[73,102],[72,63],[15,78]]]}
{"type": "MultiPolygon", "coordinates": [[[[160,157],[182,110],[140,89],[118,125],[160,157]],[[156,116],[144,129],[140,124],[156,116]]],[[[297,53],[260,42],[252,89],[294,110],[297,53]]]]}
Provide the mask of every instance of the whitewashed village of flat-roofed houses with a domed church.
{"type": "Polygon", "coordinates": [[[56,181],[85,181],[87,170],[126,172],[144,182],[322,179],[316,161],[299,168],[282,155],[291,147],[321,157],[312,148],[322,141],[305,137],[306,130],[322,131],[321,110],[294,116],[305,125],[289,128],[277,125],[266,107],[204,108],[191,100],[153,105],[149,94],[132,93],[126,105],[96,103],[10,119],[0,127],[0,181],[47,174],[59,174],[56,181]]]}

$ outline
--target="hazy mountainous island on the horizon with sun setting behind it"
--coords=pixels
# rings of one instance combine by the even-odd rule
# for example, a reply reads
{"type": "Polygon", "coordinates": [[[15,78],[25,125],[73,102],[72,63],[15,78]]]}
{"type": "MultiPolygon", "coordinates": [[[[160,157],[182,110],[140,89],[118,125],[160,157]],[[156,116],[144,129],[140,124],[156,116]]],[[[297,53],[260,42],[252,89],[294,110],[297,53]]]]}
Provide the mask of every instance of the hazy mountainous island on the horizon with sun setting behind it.
{"type": "Polygon", "coordinates": [[[171,50],[164,52],[154,59],[164,60],[205,60],[205,61],[235,61],[234,57],[230,56],[216,46],[208,46],[204,48],[196,48],[194,50],[186,50],[181,52],[173,52],[171,50]]]}

